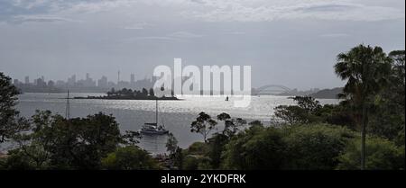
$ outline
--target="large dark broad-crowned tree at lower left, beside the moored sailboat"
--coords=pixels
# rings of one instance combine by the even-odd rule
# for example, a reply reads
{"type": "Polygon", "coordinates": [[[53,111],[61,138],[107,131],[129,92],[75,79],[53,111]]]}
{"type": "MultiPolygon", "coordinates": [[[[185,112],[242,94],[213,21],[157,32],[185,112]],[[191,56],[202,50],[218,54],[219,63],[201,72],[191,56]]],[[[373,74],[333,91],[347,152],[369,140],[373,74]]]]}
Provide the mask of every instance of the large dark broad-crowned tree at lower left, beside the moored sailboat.
{"type": "MultiPolygon", "coordinates": [[[[21,153],[35,162],[58,169],[99,169],[101,158],[125,143],[115,118],[97,113],[66,120],[51,112],[37,111],[31,131],[14,137],[21,153]]],[[[16,155],[18,156],[18,155],[16,155]]]]}

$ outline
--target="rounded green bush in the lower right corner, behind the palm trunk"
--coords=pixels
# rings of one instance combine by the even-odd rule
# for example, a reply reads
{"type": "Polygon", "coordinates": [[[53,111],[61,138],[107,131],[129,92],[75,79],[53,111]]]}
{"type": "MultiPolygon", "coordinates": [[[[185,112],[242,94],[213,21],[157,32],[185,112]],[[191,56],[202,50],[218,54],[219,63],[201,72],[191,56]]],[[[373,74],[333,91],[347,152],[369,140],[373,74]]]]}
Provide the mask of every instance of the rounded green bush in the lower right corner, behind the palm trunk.
{"type": "MultiPolygon", "coordinates": [[[[404,147],[398,148],[392,141],[377,137],[367,138],[365,144],[365,169],[404,169],[404,147]]],[[[361,139],[354,139],[338,157],[340,164],[337,169],[360,169],[360,154],[361,139]]]]}

